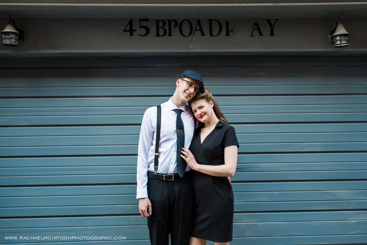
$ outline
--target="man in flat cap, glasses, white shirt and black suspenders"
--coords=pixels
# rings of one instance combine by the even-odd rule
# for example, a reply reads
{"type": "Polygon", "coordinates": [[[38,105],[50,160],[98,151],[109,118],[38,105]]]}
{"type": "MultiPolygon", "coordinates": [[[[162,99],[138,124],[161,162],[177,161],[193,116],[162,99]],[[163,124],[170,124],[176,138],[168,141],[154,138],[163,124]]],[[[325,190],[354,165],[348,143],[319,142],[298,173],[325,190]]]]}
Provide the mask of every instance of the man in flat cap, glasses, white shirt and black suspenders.
{"type": "Polygon", "coordinates": [[[143,116],[138,146],[137,198],[139,212],[148,219],[152,245],[168,245],[169,234],[172,245],[189,244],[193,187],[191,169],[180,155],[182,147],[190,147],[196,122],[186,102],[203,88],[199,73],[187,70],[177,79],[173,96],[160,108],[148,108],[143,116]],[[159,110],[161,127],[157,130],[159,110]],[[160,134],[159,148],[156,148],[157,133],[160,134]]]}

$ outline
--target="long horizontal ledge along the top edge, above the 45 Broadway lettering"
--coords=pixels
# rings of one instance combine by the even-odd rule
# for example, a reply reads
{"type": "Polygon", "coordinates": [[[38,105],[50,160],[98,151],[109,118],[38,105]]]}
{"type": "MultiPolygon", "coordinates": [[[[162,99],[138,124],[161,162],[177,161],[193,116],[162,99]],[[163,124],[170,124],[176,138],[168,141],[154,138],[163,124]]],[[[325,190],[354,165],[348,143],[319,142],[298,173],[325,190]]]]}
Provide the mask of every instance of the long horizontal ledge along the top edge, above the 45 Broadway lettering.
{"type": "Polygon", "coordinates": [[[48,18],[367,17],[367,2],[260,4],[0,3],[0,16],[48,18]]]}

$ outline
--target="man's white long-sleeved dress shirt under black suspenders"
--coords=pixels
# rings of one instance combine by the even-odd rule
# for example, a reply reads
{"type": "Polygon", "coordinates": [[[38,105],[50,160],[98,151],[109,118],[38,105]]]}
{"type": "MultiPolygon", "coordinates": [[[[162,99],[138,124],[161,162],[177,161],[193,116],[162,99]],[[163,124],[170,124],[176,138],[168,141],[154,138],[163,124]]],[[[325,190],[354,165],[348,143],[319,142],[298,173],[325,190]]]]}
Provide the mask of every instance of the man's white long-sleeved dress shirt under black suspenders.
{"type": "MultiPolygon", "coordinates": [[[[194,133],[194,119],[190,107],[183,105],[178,108],[172,97],[161,104],[162,118],[159,140],[158,173],[177,173],[177,114],[174,109],[181,109],[181,119],[185,129],[185,147],[189,148],[194,133]]],[[[148,182],[148,171],[154,172],[154,154],[157,133],[157,107],[148,108],[143,116],[137,163],[137,198],[148,197],[146,183],[148,182]]],[[[189,165],[186,171],[191,170],[189,165]]]]}

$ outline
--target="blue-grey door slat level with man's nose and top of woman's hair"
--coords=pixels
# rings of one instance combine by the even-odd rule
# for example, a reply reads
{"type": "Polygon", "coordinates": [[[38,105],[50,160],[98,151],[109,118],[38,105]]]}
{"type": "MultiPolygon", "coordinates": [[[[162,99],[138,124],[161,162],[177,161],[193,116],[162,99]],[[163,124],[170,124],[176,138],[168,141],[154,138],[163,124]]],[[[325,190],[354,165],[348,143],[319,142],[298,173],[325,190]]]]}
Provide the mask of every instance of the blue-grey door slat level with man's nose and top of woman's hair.
{"type": "MultiPolygon", "coordinates": [[[[174,79],[170,86],[116,86],[116,87],[27,87],[1,88],[0,97],[51,96],[150,96],[170,95],[175,91],[174,79]]],[[[224,84],[226,80],[222,81],[224,84]]],[[[247,83],[246,79],[243,83],[247,83]]],[[[229,84],[228,84],[229,85],[229,84]]],[[[359,94],[366,84],[343,85],[267,85],[267,86],[205,86],[212,94],[359,94]]]]}

